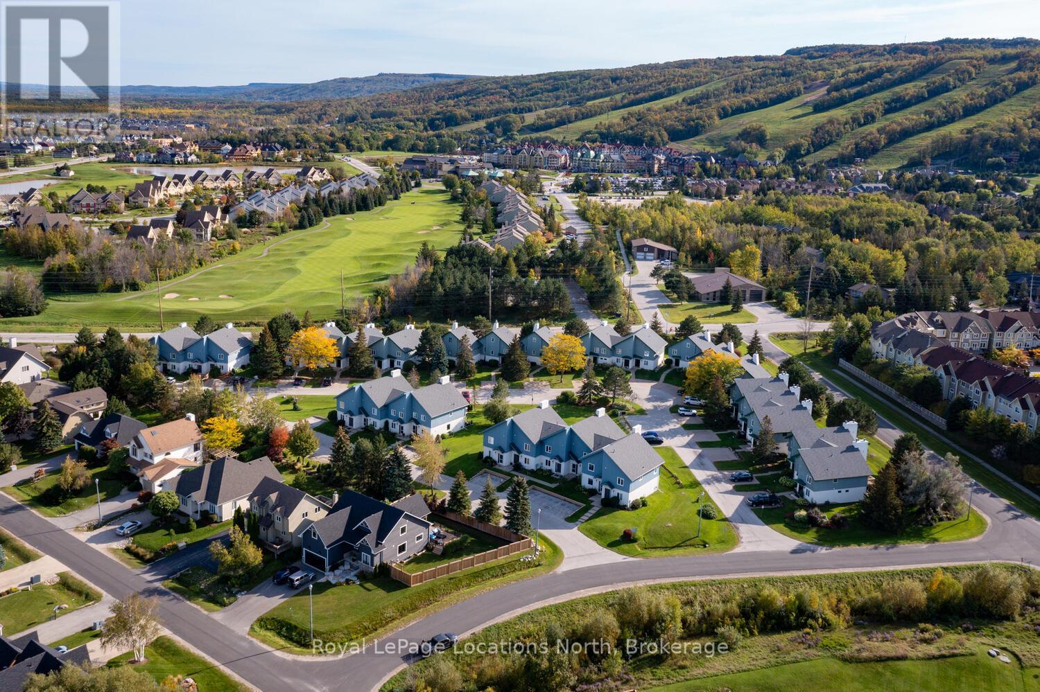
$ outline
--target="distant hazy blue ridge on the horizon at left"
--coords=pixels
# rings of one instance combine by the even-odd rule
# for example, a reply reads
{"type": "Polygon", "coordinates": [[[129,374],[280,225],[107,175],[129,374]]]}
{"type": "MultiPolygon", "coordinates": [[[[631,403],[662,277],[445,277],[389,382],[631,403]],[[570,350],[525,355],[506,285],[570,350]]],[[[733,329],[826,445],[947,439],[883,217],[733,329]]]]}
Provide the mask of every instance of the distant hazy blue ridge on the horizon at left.
{"type": "Polygon", "coordinates": [[[253,101],[307,101],[311,99],[349,99],[411,89],[444,81],[467,79],[470,75],[423,75],[381,72],[368,77],[338,77],[309,84],[251,83],[234,86],[153,86],[150,84],[122,87],[128,98],[219,99],[253,101]]]}

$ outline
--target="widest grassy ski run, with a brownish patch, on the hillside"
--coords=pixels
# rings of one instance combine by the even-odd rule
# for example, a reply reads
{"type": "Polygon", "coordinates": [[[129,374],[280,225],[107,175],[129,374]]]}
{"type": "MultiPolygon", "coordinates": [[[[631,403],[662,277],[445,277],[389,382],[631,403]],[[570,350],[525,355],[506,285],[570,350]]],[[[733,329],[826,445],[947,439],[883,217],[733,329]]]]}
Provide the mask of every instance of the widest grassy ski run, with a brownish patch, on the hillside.
{"type": "MultiPolygon", "coordinates": [[[[877,94],[873,94],[868,97],[858,99],[852,103],[816,113],[812,110],[812,101],[826,94],[826,87],[822,87],[815,91],[799,95],[794,99],[789,99],[774,106],[760,108],[747,113],[740,113],[731,117],[725,117],[719,121],[719,123],[708,132],[691,139],[675,142],[675,145],[691,150],[721,151],[736,137],[737,133],[742,129],[748,125],[757,123],[764,126],[766,132],[769,133],[766,149],[783,147],[792,139],[799,139],[800,137],[807,136],[814,127],[822,123],[825,123],[833,117],[848,116],[869,103],[888,98],[895,91],[900,91],[910,86],[920,86],[932,77],[948,73],[951,70],[956,68],[957,64],[958,61],[952,60],[933,70],[929,74],[924,75],[919,79],[908,82],[907,84],[893,86],[891,88],[878,91],[877,94]]],[[[970,83],[976,84],[977,82],[978,78],[970,83]]],[[[855,135],[853,134],[852,136],[855,135]]]]}

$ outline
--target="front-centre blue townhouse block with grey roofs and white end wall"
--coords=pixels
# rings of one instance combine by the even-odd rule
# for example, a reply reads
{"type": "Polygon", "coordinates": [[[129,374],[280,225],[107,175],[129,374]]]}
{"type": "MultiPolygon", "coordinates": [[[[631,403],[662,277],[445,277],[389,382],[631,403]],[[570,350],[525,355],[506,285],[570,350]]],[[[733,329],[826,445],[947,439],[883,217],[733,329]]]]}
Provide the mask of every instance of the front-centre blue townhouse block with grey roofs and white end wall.
{"type": "Polygon", "coordinates": [[[661,457],[640,434],[626,434],[599,408],[568,426],[543,401],[484,432],[484,455],[499,465],[580,477],[582,487],[627,505],[657,489],[661,457]]]}

